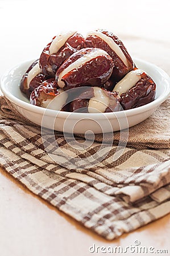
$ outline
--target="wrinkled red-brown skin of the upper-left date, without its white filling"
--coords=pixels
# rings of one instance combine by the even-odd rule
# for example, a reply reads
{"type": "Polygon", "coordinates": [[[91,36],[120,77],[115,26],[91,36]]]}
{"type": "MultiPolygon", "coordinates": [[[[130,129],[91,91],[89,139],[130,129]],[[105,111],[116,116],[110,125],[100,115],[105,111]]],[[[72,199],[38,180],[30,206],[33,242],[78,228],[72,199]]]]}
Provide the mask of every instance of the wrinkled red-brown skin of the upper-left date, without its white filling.
{"type": "MultiPolygon", "coordinates": [[[[53,39],[55,39],[55,37],[53,39]]],[[[67,42],[65,42],[64,46],[62,46],[58,52],[52,55],[49,54],[51,43],[47,44],[43,49],[40,56],[40,67],[42,68],[43,75],[55,77],[56,71],[60,65],[74,52],[83,47],[84,37],[81,34],[75,33],[68,38],[67,42]]]]}

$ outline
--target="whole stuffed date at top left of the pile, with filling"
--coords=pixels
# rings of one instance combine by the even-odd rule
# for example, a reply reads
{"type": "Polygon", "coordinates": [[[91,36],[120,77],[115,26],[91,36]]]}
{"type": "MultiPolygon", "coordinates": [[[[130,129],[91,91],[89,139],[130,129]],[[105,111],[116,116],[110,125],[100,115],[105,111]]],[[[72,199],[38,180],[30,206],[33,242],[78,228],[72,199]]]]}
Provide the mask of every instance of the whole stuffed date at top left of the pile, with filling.
{"type": "Polygon", "coordinates": [[[54,77],[60,65],[84,45],[84,37],[76,31],[55,36],[43,49],[40,67],[45,76],[54,77]]]}

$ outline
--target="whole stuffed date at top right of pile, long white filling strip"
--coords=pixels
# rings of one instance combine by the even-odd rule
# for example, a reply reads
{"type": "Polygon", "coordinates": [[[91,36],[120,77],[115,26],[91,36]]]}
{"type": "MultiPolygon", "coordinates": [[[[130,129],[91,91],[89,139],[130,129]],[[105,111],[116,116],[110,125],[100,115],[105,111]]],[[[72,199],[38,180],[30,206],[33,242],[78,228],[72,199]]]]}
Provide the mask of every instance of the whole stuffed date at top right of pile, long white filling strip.
{"type": "Polygon", "coordinates": [[[112,77],[119,81],[134,68],[134,63],[121,40],[112,32],[96,30],[88,32],[84,47],[103,49],[113,59],[114,69],[112,77]]]}

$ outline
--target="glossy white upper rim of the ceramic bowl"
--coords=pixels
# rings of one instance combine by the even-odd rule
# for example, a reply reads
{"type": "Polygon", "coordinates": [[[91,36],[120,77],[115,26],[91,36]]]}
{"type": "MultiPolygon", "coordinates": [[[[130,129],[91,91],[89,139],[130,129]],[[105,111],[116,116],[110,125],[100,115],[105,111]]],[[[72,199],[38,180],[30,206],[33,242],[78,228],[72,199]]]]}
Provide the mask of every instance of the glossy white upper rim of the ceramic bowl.
{"type": "Polygon", "coordinates": [[[22,67],[23,65],[25,65],[27,63],[31,63],[31,61],[34,61],[34,60],[23,61],[22,63],[16,65],[14,68],[10,69],[10,71],[5,72],[1,77],[0,87],[1,87],[2,93],[4,94],[4,96],[6,96],[6,98],[10,102],[13,102],[15,105],[20,106],[21,108],[30,110],[31,112],[34,112],[34,113],[39,113],[39,114],[45,113],[45,115],[49,115],[49,116],[56,115],[57,118],[66,118],[72,114],[72,119],[73,118],[74,119],[79,119],[79,118],[81,118],[81,119],[82,118],[103,119],[103,115],[105,115],[105,117],[107,117],[109,119],[112,118],[113,115],[114,116],[116,115],[117,117],[121,118],[121,117],[125,117],[125,114],[126,114],[126,116],[136,115],[139,113],[147,112],[150,109],[154,109],[157,106],[159,106],[162,102],[164,102],[170,95],[170,77],[168,76],[168,74],[165,71],[163,71],[163,69],[157,67],[155,64],[152,64],[152,63],[142,60],[142,59],[134,58],[134,61],[149,65],[151,68],[155,68],[157,70],[157,73],[159,73],[163,77],[164,82],[167,85],[167,86],[165,86],[164,93],[161,96],[157,97],[154,101],[152,101],[146,105],[140,106],[138,108],[123,110],[123,111],[118,111],[118,112],[109,112],[109,113],[73,113],[73,112],[63,112],[60,110],[45,109],[40,106],[31,105],[28,102],[20,100],[19,98],[15,97],[11,92],[9,92],[9,90],[7,89],[7,86],[5,86],[5,79],[7,76],[10,75],[11,72],[13,72],[15,69],[17,69],[19,67],[22,67]],[[74,115],[74,117],[73,117],[73,115],[74,115]]]}

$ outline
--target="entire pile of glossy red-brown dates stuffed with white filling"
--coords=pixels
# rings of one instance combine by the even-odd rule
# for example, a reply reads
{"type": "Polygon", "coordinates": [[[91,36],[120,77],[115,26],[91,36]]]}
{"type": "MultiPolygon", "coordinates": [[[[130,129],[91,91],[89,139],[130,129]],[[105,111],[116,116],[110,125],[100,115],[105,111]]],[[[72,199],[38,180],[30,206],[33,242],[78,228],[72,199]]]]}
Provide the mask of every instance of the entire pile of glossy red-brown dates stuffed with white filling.
{"type": "Polygon", "coordinates": [[[138,69],[112,32],[59,34],[28,68],[20,89],[30,103],[68,112],[117,112],[155,98],[155,82],[138,69]]]}

